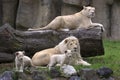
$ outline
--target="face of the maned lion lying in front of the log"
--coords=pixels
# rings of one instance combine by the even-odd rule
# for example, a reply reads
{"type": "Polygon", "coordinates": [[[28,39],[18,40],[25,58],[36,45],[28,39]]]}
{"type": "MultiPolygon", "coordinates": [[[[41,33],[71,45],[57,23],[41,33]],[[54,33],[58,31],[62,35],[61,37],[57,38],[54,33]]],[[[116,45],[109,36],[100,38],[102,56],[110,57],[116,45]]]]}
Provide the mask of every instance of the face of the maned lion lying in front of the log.
{"type": "Polygon", "coordinates": [[[66,38],[65,39],[65,44],[66,44],[66,46],[67,46],[67,48],[69,49],[69,50],[72,50],[72,51],[77,51],[77,49],[79,48],[78,47],[78,40],[77,40],[77,38],[66,38]]]}

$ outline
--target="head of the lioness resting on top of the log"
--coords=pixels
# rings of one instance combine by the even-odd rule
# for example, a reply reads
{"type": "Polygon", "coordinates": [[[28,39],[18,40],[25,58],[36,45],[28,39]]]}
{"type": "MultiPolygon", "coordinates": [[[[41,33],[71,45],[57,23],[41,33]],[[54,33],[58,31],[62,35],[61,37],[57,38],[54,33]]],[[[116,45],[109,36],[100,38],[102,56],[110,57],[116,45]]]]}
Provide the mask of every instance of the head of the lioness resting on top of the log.
{"type": "Polygon", "coordinates": [[[87,17],[89,17],[89,18],[92,18],[92,17],[94,17],[95,16],[95,8],[94,7],[90,7],[90,6],[88,6],[88,7],[85,7],[84,6],[84,14],[87,16],[87,17]]]}

